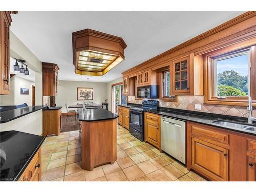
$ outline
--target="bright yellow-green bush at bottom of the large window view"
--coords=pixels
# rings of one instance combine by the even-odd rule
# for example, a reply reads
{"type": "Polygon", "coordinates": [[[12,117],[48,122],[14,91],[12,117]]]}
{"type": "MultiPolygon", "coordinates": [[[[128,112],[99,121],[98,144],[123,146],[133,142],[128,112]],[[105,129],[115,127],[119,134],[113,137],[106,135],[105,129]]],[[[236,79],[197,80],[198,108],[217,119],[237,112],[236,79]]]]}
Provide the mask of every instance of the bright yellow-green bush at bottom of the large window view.
{"type": "Polygon", "coordinates": [[[217,86],[217,95],[218,96],[246,96],[246,93],[232,86],[224,86],[223,84],[219,84],[217,86]]]}

